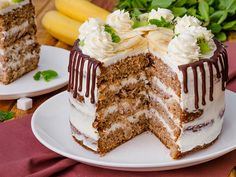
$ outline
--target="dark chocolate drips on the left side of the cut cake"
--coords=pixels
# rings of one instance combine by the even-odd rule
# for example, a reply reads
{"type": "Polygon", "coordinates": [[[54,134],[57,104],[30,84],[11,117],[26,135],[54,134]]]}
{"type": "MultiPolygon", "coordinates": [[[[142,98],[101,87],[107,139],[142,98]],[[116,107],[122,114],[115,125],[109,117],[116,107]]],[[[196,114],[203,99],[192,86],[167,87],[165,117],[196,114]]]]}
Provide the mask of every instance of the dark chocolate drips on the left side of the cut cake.
{"type": "Polygon", "coordinates": [[[68,72],[69,72],[68,91],[73,93],[74,98],[77,98],[79,96],[78,92],[81,92],[83,89],[85,61],[88,62],[85,96],[89,97],[91,95],[90,101],[92,104],[94,104],[96,72],[98,66],[100,66],[102,63],[94,58],[84,55],[79,48],[79,40],[76,40],[70,52],[70,61],[68,66],[68,72]]]}

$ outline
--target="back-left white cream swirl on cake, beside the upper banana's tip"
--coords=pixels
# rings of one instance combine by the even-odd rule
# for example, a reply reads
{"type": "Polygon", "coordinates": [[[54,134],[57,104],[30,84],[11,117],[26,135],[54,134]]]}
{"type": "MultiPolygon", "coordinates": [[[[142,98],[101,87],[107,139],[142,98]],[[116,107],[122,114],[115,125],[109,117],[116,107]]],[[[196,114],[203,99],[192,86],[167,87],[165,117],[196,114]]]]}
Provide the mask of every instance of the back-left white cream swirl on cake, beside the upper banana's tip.
{"type": "Polygon", "coordinates": [[[132,30],[133,21],[129,12],[116,10],[107,16],[106,23],[113,27],[118,33],[126,33],[132,30]]]}

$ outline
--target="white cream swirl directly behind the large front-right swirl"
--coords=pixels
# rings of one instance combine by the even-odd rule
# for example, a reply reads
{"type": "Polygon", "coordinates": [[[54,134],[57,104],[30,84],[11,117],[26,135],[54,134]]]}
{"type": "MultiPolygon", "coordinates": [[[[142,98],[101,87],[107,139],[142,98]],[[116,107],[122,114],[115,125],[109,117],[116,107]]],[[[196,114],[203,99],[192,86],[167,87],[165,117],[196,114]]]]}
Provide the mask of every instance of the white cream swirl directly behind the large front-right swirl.
{"type": "Polygon", "coordinates": [[[191,26],[200,26],[201,22],[194,16],[184,15],[176,18],[175,34],[186,32],[191,26]]]}

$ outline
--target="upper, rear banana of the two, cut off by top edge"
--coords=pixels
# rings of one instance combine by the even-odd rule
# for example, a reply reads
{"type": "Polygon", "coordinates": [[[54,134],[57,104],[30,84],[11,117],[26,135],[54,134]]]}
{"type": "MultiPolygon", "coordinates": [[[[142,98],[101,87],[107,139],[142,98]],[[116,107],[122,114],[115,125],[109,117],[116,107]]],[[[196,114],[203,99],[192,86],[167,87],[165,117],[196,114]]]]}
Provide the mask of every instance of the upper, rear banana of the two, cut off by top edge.
{"type": "Polygon", "coordinates": [[[68,17],[78,21],[86,21],[88,18],[100,18],[106,20],[109,12],[88,0],[55,0],[57,10],[68,17]]]}

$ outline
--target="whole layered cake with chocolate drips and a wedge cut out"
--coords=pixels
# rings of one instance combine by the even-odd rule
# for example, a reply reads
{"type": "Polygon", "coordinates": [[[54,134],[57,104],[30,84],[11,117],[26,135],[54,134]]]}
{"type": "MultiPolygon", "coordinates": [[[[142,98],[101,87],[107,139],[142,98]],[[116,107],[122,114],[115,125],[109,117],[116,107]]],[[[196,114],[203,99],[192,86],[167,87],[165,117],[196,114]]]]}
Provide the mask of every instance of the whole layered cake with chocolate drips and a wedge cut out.
{"type": "Polygon", "coordinates": [[[221,132],[227,52],[195,17],[158,9],[89,19],[68,69],[72,136],[94,152],[151,131],[177,159],[221,132]]]}

